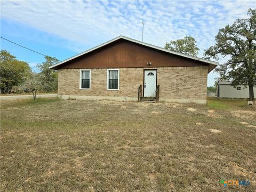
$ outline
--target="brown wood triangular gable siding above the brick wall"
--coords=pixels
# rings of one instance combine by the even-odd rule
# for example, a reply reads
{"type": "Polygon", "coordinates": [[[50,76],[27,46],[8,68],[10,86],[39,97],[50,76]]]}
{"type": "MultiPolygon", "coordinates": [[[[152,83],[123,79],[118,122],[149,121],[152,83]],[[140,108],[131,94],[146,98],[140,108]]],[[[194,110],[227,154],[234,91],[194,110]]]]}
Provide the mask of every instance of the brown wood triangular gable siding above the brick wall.
{"type": "Polygon", "coordinates": [[[130,68],[130,67],[189,67],[207,66],[178,55],[164,53],[128,41],[117,41],[79,58],[68,61],[60,69],[75,68],[130,68]],[[151,62],[151,66],[146,63],[151,62]]]}

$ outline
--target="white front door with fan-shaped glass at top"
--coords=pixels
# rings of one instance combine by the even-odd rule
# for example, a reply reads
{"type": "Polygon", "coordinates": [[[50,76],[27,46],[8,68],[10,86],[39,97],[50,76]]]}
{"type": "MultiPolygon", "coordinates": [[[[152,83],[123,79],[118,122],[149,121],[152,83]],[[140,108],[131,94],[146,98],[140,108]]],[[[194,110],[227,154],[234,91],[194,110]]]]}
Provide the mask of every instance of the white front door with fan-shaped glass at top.
{"type": "Polygon", "coordinates": [[[144,97],[156,97],[156,70],[144,71],[144,97]]]}

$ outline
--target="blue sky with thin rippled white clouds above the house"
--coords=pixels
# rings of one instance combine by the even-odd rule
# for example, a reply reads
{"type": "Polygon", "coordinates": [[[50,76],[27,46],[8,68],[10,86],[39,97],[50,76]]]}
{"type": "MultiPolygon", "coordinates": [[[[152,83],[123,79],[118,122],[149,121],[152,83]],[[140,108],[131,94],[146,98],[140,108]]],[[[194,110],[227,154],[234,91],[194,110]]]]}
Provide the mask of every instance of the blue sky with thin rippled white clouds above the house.
{"type": "MultiPolygon", "coordinates": [[[[202,57],[218,30],[247,18],[256,1],[1,1],[1,36],[35,51],[65,60],[119,35],[164,46],[193,36],[202,57]]],[[[42,55],[1,39],[1,49],[36,70],[42,55]]],[[[225,62],[221,59],[219,62],[225,62]]],[[[214,77],[208,75],[208,86],[214,77]]]]}

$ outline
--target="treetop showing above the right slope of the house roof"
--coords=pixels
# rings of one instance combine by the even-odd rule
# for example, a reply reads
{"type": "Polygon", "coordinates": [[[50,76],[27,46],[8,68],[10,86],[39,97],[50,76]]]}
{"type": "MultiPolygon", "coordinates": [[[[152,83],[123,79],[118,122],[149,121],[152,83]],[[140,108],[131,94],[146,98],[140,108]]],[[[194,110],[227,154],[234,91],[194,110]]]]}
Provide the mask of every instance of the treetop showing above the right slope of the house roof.
{"type": "Polygon", "coordinates": [[[196,45],[196,40],[191,37],[187,36],[183,39],[177,39],[176,41],[171,41],[170,43],[165,43],[165,49],[195,56],[198,54],[198,47],[196,45]]]}

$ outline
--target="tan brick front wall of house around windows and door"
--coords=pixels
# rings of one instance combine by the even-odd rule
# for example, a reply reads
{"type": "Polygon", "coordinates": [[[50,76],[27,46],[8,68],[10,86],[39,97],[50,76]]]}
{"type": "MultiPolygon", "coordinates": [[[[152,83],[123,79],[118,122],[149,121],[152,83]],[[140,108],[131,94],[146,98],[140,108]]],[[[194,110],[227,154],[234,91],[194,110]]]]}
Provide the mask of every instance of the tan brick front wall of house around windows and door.
{"type": "Polygon", "coordinates": [[[91,69],[91,90],[79,90],[80,69],[59,69],[59,94],[86,96],[138,96],[143,69],[157,69],[160,99],[206,99],[207,66],[119,68],[119,90],[107,90],[107,69],[91,69]]]}

